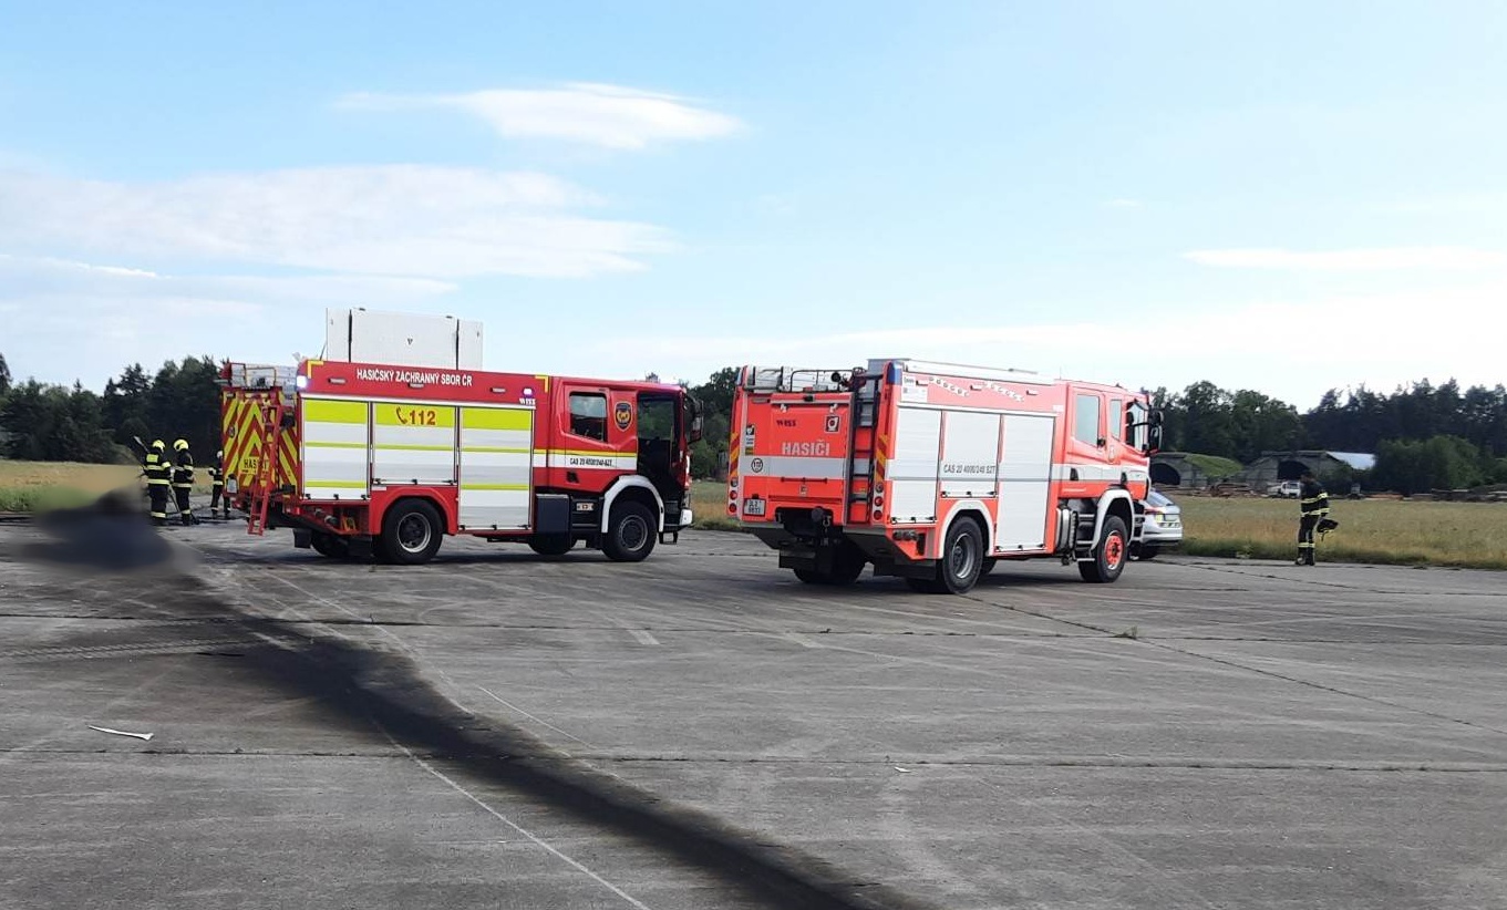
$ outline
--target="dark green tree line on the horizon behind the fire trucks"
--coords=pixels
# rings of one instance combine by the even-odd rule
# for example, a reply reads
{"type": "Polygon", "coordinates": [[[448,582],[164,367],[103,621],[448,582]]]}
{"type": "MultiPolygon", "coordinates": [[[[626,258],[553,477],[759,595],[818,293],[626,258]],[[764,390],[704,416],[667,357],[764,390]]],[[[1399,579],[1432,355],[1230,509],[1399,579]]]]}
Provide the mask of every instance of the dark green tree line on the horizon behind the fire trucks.
{"type": "MultiPolygon", "coordinates": [[[[737,372],[728,366],[690,386],[705,416],[704,438],[692,450],[698,478],[717,476],[726,457],[737,372]]],[[[220,438],[217,374],[206,356],[164,363],[155,374],[134,363],[96,395],[77,383],[15,383],[0,354],[0,455],[128,463],[137,458],[133,437],[140,437],[169,446],[185,438],[206,461],[220,438]]],[[[1299,411],[1261,392],[1203,381],[1180,392],[1156,389],[1151,402],[1165,416],[1169,452],[1240,464],[1287,449],[1368,452],[1376,467],[1355,479],[1402,493],[1507,484],[1507,389],[1499,384],[1418,381],[1389,395],[1364,386],[1331,389],[1317,407],[1299,411]]]]}

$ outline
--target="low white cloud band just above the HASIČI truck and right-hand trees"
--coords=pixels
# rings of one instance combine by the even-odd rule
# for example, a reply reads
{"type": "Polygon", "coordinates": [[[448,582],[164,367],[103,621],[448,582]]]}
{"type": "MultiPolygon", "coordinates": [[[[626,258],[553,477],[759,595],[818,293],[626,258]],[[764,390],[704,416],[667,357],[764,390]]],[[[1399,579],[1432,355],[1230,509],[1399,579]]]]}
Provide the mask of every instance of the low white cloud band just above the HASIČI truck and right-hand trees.
{"type": "Polygon", "coordinates": [[[1421,378],[1439,383],[1454,377],[1462,386],[1502,383],[1499,339],[1507,337],[1507,309],[1501,300],[1507,300],[1507,280],[1495,279],[1463,288],[1133,312],[1084,322],[910,322],[876,331],[788,336],[757,334],[749,325],[722,336],[618,337],[589,354],[615,374],[653,368],[693,381],[734,365],[842,369],[871,357],[1032,369],[1129,389],[1180,390],[1209,380],[1307,410],[1328,389],[1362,383],[1382,390],[1421,378]],[[1314,357],[1311,347],[1290,344],[1301,325],[1323,331],[1322,357],[1314,357]]]}

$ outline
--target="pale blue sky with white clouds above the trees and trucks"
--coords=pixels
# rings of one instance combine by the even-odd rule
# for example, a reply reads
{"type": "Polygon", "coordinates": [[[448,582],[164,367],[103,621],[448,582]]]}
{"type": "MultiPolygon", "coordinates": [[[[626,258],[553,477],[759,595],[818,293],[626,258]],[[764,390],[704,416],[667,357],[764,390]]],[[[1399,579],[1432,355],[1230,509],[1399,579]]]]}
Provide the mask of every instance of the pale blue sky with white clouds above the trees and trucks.
{"type": "Polygon", "coordinates": [[[1507,381],[1499,3],[0,2],[0,353],[1507,381]],[[1311,340],[1305,340],[1311,339],[1311,340]]]}

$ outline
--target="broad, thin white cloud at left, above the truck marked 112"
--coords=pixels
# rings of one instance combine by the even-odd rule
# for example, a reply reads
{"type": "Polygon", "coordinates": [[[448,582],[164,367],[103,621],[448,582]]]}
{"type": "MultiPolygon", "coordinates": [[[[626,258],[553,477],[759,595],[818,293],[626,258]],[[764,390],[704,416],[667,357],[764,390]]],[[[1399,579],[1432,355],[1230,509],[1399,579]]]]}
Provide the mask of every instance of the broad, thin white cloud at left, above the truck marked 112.
{"type": "Polygon", "coordinates": [[[583,277],[674,249],[589,218],[556,178],[461,167],[313,167],[125,184],[0,172],[0,244],[78,258],[256,262],[357,274],[583,277]]]}

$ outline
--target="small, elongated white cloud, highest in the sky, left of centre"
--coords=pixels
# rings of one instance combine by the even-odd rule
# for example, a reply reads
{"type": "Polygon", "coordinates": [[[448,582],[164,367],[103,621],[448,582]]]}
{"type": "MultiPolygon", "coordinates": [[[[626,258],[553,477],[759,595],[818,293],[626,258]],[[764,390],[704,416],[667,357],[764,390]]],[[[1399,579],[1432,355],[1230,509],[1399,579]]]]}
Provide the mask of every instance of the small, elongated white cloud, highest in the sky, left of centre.
{"type": "Polygon", "coordinates": [[[484,119],[509,139],[559,139],[609,149],[717,139],[741,128],[737,118],[695,107],[686,98],[597,83],[458,95],[354,93],[338,105],[348,110],[460,110],[484,119]]]}

